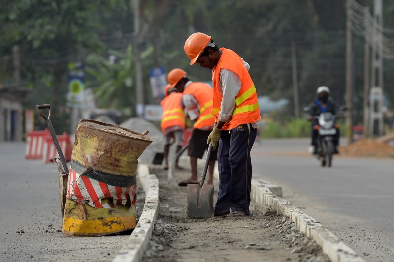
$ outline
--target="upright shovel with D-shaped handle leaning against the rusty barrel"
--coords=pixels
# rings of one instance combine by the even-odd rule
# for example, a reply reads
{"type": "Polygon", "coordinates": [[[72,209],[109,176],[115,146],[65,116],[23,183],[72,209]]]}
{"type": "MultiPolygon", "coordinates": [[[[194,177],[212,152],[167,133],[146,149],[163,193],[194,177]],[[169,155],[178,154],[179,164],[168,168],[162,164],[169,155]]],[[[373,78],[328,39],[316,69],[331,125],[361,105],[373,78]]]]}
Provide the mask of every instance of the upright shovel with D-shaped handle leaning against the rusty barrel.
{"type": "Polygon", "coordinates": [[[63,155],[62,148],[59,145],[58,138],[56,137],[55,130],[53,129],[52,122],[51,122],[51,105],[45,104],[45,105],[36,105],[35,108],[38,111],[38,114],[42,116],[42,118],[45,119],[49,132],[51,133],[53,143],[55,143],[56,150],[58,151],[59,158],[55,158],[55,162],[58,165],[58,170],[59,170],[59,190],[60,190],[60,205],[62,207],[62,216],[64,214],[65,210],[65,204],[66,204],[66,197],[67,197],[67,182],[68,182],[68,167],[66,163],[66,159],[63,155]],[[48,117],[42,114],[41,109],[48,109],[49,114],[48,117]],[[62,168],[63,166],[63,168],[62,168]]]}

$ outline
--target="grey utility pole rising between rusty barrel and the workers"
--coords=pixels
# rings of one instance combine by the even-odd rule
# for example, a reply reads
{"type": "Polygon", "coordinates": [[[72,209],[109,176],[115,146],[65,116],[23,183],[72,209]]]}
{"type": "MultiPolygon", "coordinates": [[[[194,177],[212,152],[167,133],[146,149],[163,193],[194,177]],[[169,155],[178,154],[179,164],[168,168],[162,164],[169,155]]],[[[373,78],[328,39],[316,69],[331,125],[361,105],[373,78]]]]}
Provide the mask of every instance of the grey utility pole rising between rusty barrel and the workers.
{"type": "Polygon", "coordinates": [[[142,61],[139,50],[140,44],[140,13],[139,0],[134,0],[134,52],[135,52],[135,88],[137,117],[144,115],[144,86],[142,81],[142,61]]]}

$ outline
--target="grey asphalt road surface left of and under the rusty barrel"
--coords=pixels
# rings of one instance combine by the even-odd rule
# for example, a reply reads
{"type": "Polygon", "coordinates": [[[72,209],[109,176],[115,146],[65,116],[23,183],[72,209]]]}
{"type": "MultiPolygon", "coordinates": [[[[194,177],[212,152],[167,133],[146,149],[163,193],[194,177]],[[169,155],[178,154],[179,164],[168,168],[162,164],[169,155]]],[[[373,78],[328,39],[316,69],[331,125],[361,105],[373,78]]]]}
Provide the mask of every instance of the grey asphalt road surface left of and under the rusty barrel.
{"type": "Polygon", "coordinates": [[[128,234],[62,234],[55,163],[25,160],[25,143],[0,143],[0,261],[108,262],[128,234]]]}

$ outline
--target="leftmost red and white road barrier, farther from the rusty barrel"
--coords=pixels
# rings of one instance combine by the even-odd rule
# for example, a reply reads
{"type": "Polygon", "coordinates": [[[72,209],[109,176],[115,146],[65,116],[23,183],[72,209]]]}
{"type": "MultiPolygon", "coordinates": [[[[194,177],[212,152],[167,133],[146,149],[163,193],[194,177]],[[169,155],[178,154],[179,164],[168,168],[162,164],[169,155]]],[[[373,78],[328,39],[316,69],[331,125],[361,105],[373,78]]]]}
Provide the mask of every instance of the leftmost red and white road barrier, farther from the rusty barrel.
{"type": "Polygon", "coordinates": [[[51,137],[48,128],[40,131],[30,131],[25,151],[26,159],[41,159],[42,149],[46,137],[51,137]]]}

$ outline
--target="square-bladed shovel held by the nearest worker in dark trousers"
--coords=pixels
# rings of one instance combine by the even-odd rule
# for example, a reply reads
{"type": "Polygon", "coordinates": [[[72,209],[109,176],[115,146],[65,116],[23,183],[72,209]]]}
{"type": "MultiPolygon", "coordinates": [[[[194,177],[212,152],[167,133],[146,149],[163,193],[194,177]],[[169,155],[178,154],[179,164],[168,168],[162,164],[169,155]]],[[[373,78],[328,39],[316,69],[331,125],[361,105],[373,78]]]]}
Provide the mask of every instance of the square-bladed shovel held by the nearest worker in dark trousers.
{"type": "Polygon", "coordinates": [[[213,185],[204,185],[212,144],[209,143],[204,170],[198,184],[188,184],[186,216],[191,218],[213,217],[213,185]]]}

